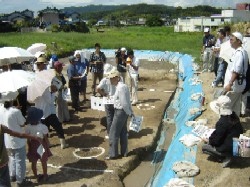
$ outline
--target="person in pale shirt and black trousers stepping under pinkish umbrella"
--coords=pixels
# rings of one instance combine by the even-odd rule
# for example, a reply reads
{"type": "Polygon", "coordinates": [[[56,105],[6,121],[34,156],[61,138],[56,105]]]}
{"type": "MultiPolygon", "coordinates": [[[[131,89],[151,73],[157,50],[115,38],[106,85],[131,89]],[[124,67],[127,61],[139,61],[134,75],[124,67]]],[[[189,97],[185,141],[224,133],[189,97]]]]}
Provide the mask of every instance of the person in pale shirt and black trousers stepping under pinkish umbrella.
{"type": "Polygon", "coordinates": [[[56,107],[54,105],[55,92],[57,92],[60,89],[60,87],[61,87],[60,82],[53,81],[51,83],[51,86],[44,91],[42,96],[36,98],[34,102],[35,102],[35,107],[43,111],[42,123],[44,123],[48,127],[48,129],[50,126],[52,126],[55,129],[61,143],[61,148],[65,149],[69,147],[69,145],[66,144],[65,142],[62,123],[56,116],[56,107]]]}

